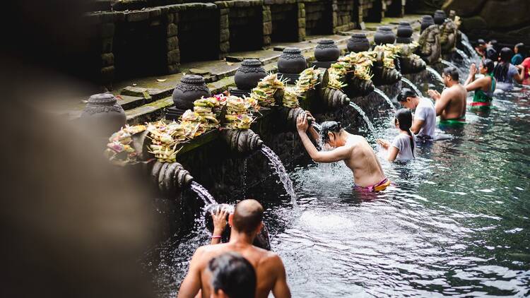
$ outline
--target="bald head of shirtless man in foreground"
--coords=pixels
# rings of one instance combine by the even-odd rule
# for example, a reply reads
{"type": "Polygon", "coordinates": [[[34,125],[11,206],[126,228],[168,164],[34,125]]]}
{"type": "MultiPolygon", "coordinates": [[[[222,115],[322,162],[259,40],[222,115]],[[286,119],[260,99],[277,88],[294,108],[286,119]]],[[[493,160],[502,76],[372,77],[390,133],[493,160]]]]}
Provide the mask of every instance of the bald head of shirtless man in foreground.
{"type": "Polygon", "coordinates": [[[263,206],[256,200],[243,200],[235,205],[232,227],[237,232],[251,234],[263,220],[263,206]]]}

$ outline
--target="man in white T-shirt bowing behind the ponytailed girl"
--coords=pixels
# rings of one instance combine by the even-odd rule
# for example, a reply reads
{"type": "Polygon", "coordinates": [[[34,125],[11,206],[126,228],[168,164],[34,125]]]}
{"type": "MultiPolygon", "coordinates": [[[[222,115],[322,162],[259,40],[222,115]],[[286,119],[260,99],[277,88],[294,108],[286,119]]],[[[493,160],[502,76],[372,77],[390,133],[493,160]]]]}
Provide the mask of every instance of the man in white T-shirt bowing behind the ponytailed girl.
{"type": "Polygon", "coordinates": [[[435,137],[436,126],[435,105],[428,98],[418,97],[408,88],[401,89],[397,100],[402,106],[414,111],[412,133],[418,135],[418,138],[432,140],[435,137]]]}

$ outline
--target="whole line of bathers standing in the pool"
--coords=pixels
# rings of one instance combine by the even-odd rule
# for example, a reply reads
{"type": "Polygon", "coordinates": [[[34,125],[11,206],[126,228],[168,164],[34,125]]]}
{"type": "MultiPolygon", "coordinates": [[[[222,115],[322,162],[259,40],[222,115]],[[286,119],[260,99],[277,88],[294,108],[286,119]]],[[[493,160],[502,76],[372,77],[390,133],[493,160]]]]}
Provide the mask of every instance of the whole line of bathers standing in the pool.
{"type": "MultiPolygon", "coordinates": [[[[530,57],[524,57],[524,44],[497,49],[497,42],[478,40],[476,52],[481,62],[471,64],[469,76],[460,83],[459,71],[444,68],[442,93],[428,90],[430,98],[403,88],[397,101],[394,125],[399,131],[393,141],[377,139],[389,162],[407,162],[416,157],[417,142],[436,141],[437,117],[440,126],[461,126],[466,122],[467,95],[474,92],[471,109],[489,109],[495,90],[509,90],[514,82],[530,83],[530,57]]],[[[463,78],[462,78],[463,79],[463,78]]],[[[297,129],[307,153],[315,162],[343,161],[353,172],[355,189],[377,192],[390,185],[372,146],[363,136],[348,133],[337,121],[310,125],[314,117],[305,112],[297,119],[297,129]]],[[[264,228],[263,207],[258,201],[244,200],[233,212],[217,208],[211,212],[211,244],[196,250],[178,297],[290,297],[281,258],[260,248],[264,228]],[[227,227],[229,226],[229,227],[227,227]],[[230,239],[221,244],[223,233],[230,239]]]]}

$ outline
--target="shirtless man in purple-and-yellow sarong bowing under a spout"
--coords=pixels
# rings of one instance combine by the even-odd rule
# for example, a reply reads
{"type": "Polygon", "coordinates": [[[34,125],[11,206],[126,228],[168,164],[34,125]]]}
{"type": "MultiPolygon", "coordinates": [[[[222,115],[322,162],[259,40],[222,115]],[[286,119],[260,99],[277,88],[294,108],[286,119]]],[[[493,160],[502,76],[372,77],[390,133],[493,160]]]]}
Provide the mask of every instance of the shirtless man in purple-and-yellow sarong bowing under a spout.
{"type": "MultiPolygon", "coordinates": [[[[321,124],[322,140],[334,150],[317,150],[306,133],[308,114],[307,112],[300,114],[296,119],[296,127],[305,150],[315,162],[343,160],[353,172],[355,188],[360,191],[382,191],[390,185],[370,144],[362,136],[355,136],[345,131],[340,122],[326,121],[321,124]]],[[[311,114],[309,116],[312,117],[311,114]]],[[[319,138],[319,133],[312,126],[309,133],[314,139],[319,138]]]]}

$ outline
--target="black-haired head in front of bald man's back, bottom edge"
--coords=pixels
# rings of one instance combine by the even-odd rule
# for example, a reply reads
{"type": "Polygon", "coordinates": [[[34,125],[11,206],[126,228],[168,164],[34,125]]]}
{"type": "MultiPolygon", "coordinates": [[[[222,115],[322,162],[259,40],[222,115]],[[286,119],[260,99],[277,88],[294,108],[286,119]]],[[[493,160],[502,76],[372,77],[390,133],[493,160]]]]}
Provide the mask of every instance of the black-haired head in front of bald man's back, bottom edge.
{"type": "Polygon", "coordinates": [[[256,294],[256,270],[241,254],[228,252],[208,261],[214,292],[223,290],[230,298],[248,298],[256,294]]]}

